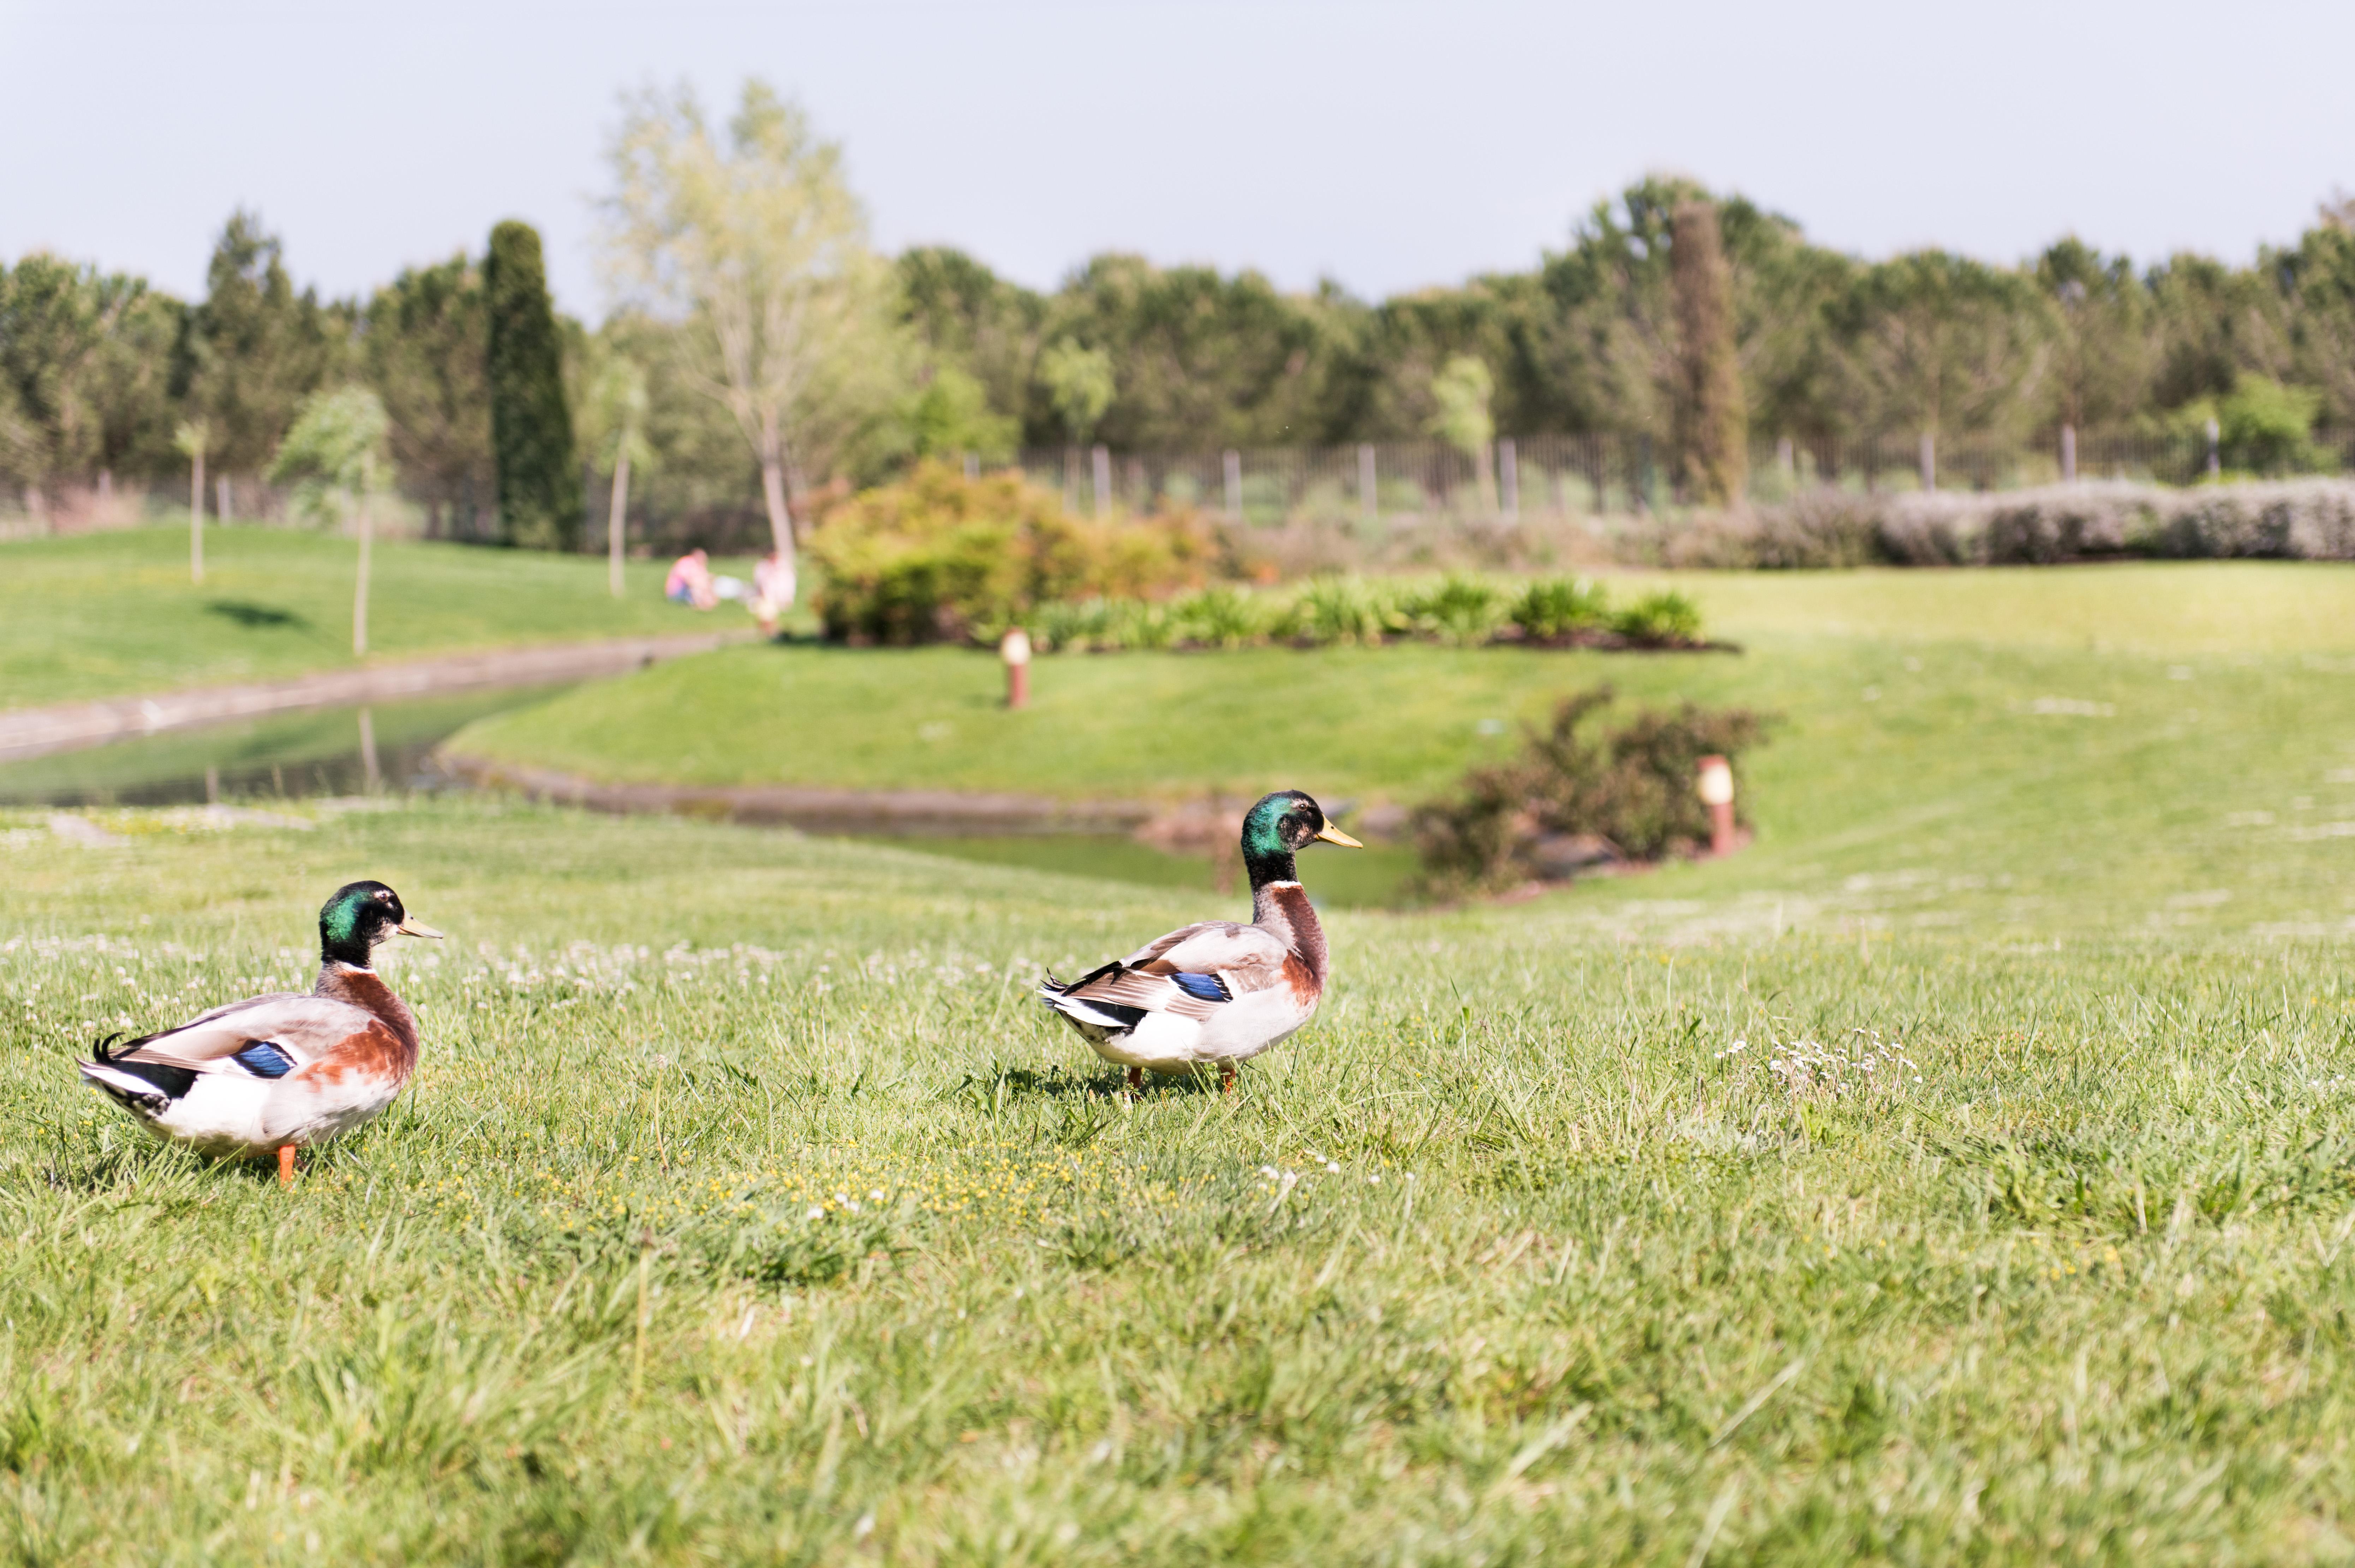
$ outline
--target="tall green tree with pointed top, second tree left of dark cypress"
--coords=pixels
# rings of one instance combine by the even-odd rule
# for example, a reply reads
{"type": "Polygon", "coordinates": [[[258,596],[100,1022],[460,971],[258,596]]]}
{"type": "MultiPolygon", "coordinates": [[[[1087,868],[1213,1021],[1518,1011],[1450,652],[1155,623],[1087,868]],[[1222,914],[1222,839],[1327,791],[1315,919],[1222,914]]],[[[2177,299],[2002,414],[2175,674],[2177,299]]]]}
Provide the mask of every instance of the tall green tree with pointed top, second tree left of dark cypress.
{"type": "Polygon", "coordinates": [[[261,219],[236,212],[212,247],[205,301],[188,311],[172,351],[172,396],[214,433],[214,466],[259,473],[294,405],[341,377],[356,311],[294,292],[283,245],[261,219]]]}

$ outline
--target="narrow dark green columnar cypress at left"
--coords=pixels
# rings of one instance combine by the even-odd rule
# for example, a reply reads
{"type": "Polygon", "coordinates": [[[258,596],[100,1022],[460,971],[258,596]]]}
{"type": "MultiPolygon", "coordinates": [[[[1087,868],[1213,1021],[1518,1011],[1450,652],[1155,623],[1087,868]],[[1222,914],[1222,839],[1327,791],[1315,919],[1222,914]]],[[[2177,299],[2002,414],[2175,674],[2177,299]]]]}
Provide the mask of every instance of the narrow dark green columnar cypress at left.
{"type": "Polygon", "coordinates": [[[490,231],[483,290],[490,297],[490,450],[499,466],[499,539],[544,551],[579,549],[582,471],[537,228],[509,219],[490,231]]]}

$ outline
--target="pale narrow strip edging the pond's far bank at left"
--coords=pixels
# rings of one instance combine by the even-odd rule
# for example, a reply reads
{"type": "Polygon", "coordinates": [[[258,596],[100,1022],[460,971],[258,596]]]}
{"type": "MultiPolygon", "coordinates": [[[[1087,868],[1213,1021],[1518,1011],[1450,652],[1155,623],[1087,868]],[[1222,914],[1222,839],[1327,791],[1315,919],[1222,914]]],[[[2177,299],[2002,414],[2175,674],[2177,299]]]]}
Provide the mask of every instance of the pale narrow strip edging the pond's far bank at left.
{"type": "Polygon", "coordinates": [[[593,680],[619,676],[659,659],[711,652],[739,643],[749,633],[697,633],[674,638],[612,638],[605,643],[553,643],[542,647],[497,647],[490,652],[419,659],[414,664],[377,664],[372,669],[337,669],[294,680],[254,685],[207,685],[155,697],[115,697],[108,702],[68,702],[54,709],[19,709],[0,713],[0,763],[52,751],[101,746],[137,735],[191,730],[228,718],[259,718],[301,709],[344,709],[363,702],[400,702],[405,697],[440,697],[445,692],[483,692],[502,685],[553,685],[558,680],[593,680]]]}

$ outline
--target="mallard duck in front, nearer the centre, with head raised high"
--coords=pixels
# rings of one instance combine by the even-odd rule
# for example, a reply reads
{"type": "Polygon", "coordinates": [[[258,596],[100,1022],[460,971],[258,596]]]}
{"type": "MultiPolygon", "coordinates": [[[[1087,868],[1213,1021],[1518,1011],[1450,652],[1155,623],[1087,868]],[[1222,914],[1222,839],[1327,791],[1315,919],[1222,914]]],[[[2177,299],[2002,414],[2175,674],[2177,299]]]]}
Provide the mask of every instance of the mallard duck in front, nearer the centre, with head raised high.
{"type": "Polygon", "coordinates": [[[1173,930],[1072,984],[1053,975],[1039,998],[1079,1029],[1095,1055],[1161,1074],[1218,1064],[1220,1092],[1234,1064],[1300,1029],[1316,1012],[1333,961],[1293,855],[1312,843],[1364,850],[1326,822],[1298,789],[1279,789],[1243,815],[1251,925],[1203,921],[1173,930]]]}

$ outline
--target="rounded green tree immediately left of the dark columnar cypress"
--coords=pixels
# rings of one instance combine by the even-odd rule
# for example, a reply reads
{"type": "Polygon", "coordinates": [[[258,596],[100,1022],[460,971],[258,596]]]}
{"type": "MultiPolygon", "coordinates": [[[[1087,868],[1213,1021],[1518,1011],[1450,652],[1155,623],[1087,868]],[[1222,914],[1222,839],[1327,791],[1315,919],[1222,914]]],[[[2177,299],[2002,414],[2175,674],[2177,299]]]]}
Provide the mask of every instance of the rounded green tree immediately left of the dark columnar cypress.
{"type": "Polygon", "coordinates": [[[480,537],[490,450],[490,299],[464,254],[403,268],[363,315],[360,365],[391,419],[393,466],[429,534],[480,537]]]}

